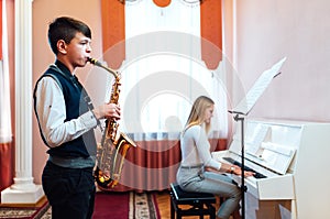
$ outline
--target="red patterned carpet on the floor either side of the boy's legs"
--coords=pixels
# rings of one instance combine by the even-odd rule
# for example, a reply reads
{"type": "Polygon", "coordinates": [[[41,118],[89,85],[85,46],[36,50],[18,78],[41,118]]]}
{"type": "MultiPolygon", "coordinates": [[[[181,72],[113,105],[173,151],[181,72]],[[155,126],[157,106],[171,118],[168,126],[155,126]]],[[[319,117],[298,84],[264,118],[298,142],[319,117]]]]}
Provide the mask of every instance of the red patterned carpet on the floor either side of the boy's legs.
{"type": "MultiPolygon", "coordinates": [[[[152,193],[97,193],[94,219],[160,219],[156,196],[152,193]]],[[[52,208],[0,207],[0,219],[52,219],[52,208]]]]}

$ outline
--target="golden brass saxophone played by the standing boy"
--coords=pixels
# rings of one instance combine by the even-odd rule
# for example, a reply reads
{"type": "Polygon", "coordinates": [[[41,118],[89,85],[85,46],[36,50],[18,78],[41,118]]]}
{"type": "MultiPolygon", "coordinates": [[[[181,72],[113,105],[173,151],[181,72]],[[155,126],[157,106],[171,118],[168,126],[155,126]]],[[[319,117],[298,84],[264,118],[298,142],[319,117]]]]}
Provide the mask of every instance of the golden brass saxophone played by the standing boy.
{"type": "MultiPolygon", "coordinates": [[[[114,76],[112,84],[111,98],[109,103],[118,103],[120,94],[120,76],[119,74],[103,66],[95,58],[88,58],[88,62],[95,66],[101,67],[114,76]]],[[[123,162],[128,150],[135,146],[135,143],[124,133],[118,133],[119,123],[116,119],[106,120],[106,129],[102,133],[101,145],[97,149],[97,167],[94,172],[95,179],[100,189],[113,188],[121,175],[123,162]]]]}

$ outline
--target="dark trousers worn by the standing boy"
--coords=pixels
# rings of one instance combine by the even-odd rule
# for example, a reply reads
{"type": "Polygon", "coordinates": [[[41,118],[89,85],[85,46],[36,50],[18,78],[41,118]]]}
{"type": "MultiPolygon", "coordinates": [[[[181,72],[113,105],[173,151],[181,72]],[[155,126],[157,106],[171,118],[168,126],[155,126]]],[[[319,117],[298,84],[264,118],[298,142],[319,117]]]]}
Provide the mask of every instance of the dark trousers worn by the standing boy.
{"type": "Polygon", "coordinates": [[[92,168],[65,168],[47,162],[42,175],[53,219],[90,219],[96,186],[92,168]]]}

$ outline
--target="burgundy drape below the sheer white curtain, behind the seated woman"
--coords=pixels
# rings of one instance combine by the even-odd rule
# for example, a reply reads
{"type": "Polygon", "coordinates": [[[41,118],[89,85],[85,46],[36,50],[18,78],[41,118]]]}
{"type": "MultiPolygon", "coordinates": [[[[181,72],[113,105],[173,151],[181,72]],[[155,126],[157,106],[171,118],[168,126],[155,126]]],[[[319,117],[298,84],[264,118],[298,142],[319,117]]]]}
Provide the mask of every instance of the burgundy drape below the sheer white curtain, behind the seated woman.
{"type": "MultiPolygon", "coordinates": [[[[121,179],[110,191],[145,191],[168,189],[176,180],[180,163],[180,146],[177,140],[136,142],[127,154],[121,179]]],[[[210,140],[211,151],[227,149],[226,139],[210,140]]]]}

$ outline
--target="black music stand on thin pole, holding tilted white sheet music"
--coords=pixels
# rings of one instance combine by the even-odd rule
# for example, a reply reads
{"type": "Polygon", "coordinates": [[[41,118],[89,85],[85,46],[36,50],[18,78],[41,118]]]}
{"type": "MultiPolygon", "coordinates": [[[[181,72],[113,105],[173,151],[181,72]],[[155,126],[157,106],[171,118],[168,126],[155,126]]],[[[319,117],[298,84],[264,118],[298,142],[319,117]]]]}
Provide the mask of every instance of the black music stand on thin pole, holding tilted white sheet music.
{"type": "Polygon", "coordinates": [[[245,219],[245,191],[248,190],[244,180],[244,117],[251,111],[257,99],[262,96],[265,89],[268,87],[273,78],[277,77],[280,72],[283,63],[286,61],[286,57],[282,58],[270,69],[265,70],[252,86],[252,88],[246,94],[246,97],[241,100],[238,107],[234,110],[229,110],[228,112],[235,114],[234,120],[241,122],[241,190],[242,190],[242,219],[245,219]]]}

